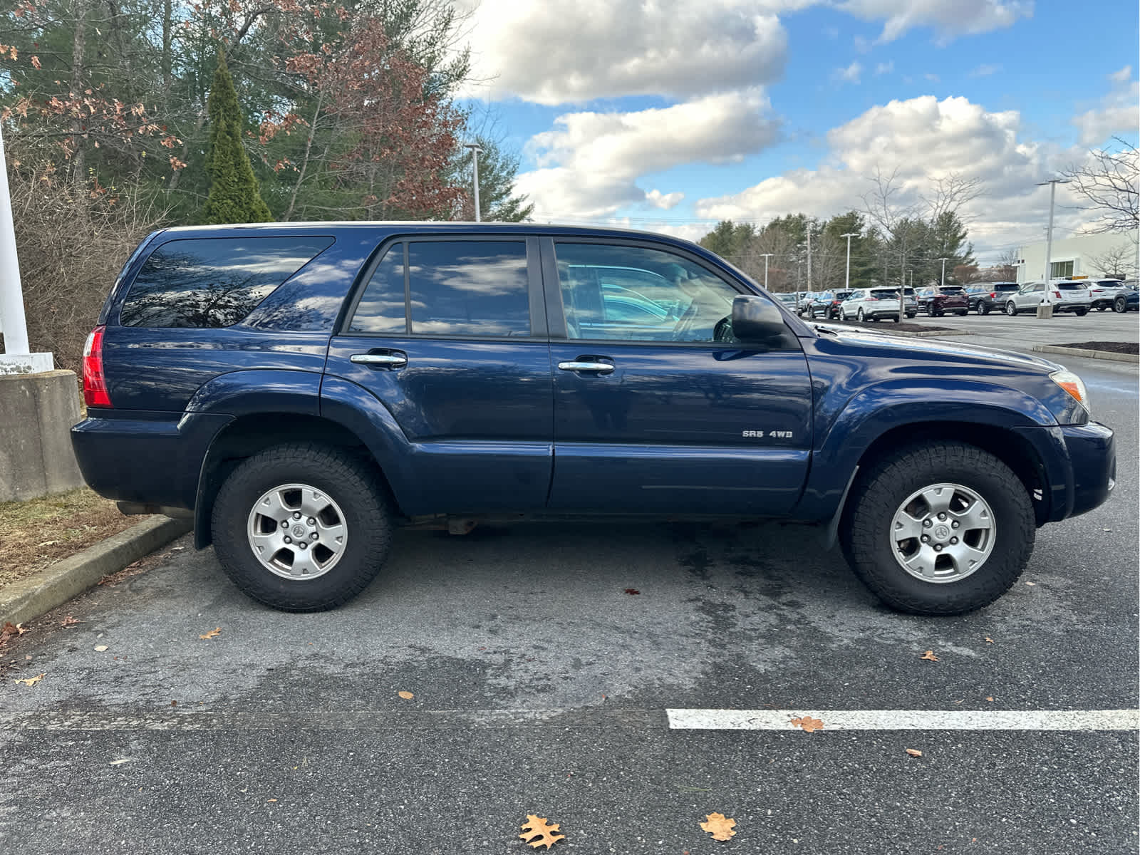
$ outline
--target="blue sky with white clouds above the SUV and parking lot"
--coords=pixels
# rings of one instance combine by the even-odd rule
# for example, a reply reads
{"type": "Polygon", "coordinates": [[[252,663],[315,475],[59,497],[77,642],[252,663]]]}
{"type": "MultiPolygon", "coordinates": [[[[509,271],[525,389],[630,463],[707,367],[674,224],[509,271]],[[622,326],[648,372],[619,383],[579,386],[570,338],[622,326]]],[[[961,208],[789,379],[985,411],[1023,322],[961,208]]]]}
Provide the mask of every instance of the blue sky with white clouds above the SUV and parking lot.
{"type": "MultiPolygon", "coordinates": [[[[699,239],[983,180],[979,261],[1044,239],[1035,186],[1138,141],[1134,0],[461,0],[467,104],[537,221],[699,239]]],[[[1054,237],[1091,215],[1060,186],[1054,237]]]]}

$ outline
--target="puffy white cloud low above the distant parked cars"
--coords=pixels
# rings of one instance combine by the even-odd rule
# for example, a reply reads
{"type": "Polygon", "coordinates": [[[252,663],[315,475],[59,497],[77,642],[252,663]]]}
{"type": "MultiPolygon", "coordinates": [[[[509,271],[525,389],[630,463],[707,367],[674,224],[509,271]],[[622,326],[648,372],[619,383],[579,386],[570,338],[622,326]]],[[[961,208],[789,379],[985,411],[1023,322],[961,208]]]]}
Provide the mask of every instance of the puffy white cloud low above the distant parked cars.
{"type": "MultiPolygon", "coordinates": [[[[1035,185],[1073,158],[1019,139],[1016,111],[988,112],[966,98],[922,96],[876,106],[828,133],[829,154],[814,170],[795,170],[740,193],[699,199],[697,215],[767,220],[804,211],[830,217],[863,207],[862,195],[877,168],[897,168],[897,201],[920,204],[931,179],[958,173],[985,182],[985,196],[963,211],[979,251],[1039,239],[1048,193],[1035,185]]],[[[1086,214],[1060,209],[1058,234],[1077,228],[1086,214]]]]}

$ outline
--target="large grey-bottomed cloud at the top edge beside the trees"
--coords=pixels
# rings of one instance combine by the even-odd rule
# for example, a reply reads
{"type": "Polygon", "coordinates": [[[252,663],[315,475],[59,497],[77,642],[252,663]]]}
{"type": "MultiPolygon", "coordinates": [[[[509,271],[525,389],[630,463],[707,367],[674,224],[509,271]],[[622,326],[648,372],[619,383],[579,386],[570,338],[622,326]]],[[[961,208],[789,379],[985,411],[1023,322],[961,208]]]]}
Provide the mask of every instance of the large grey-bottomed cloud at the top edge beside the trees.
{"type": "Polygon", "coordinates": [[[576,0],[556,9],[481,0],[472,15],[473,76],[486,83],[469,95],[491,99],[685,98],[772,82],[788,54],[775,14],[749,0],[576,0]]]}

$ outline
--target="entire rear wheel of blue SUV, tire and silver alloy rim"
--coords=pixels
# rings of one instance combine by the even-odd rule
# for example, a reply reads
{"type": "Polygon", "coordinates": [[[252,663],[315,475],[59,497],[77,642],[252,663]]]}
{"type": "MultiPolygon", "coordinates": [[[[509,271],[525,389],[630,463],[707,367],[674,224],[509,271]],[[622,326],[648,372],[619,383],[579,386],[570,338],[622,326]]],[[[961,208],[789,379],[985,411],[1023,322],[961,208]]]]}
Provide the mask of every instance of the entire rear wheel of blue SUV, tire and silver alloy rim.
{"type": "Polygon", "coordinates": [[[214,552],[244,593],[283,611],[334,609],[388,555],[388,502],[367,469],[326,446],[269,448],[235,469],[214,499],[214,552]]]}

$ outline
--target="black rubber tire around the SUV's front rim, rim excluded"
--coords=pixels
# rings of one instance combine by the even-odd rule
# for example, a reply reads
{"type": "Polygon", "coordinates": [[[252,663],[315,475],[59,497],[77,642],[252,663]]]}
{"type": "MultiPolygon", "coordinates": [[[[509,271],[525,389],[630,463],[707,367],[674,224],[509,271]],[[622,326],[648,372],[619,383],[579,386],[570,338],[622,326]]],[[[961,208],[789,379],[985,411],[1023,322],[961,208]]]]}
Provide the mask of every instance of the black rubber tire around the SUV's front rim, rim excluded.
{"type": "Polygon", "coordinates": [[[1035,534],[1033,503],[1013,471],[961,442],[903,448],[870,466],[853,486],[840,530],[844,554],[860,579],[887,605],[912,614],[961,614],[988,605],[1021,575],[1035,534]],[[974,490],[990,505],[993,548],[961,579],[926,581],[896,560],[890,527],[909,496],[943,482],[974,490]]]}

